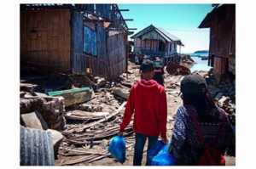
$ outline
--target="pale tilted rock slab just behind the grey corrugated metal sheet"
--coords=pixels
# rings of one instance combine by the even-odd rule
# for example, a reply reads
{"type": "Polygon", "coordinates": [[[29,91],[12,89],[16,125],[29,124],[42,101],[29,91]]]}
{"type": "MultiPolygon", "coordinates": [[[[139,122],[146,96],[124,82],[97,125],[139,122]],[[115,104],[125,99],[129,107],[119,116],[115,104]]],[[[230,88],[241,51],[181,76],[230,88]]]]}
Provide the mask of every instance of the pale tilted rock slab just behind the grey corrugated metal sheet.
{"type": "Polygon", "coordinates": [[[25,127],[35,128],[39,130],[47,130],[48,125],[44,121],[43,116],[38,111],[21,115],[21,121],[25,127]]]}

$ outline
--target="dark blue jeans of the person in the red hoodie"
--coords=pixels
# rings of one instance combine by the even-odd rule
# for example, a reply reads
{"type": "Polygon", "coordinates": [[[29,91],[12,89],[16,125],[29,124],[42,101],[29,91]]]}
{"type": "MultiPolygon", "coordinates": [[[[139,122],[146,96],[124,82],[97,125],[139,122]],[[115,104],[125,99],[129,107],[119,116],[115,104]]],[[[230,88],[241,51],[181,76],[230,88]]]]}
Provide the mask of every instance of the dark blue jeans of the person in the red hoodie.
{"type": "MultiPolygon", "coordinates": [[[[156,144],[158,137],[147,136],[144,134],[136,133],[135,134],[135,149],[134,149],[134,158],[133,166],[142,166],[143,161],[143,149],[148,138],[148,150],[156,144]]],[[[146,162],[146,166],[149,166],[151,161],[146,162]]]]}

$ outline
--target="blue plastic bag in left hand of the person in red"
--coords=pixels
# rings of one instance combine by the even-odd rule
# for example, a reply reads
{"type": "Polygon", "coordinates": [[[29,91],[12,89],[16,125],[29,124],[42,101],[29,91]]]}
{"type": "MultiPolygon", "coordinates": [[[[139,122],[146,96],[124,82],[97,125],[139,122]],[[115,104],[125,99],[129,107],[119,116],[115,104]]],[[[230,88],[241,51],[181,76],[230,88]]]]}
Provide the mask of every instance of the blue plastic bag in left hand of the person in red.
{"type": "Polygon", "coordinates": [[[125,162],[126,145],[123,135],[121,137],[116,136],[112,139],[111,143],[108,146],[108,152],[121,164],[125,162]]]}

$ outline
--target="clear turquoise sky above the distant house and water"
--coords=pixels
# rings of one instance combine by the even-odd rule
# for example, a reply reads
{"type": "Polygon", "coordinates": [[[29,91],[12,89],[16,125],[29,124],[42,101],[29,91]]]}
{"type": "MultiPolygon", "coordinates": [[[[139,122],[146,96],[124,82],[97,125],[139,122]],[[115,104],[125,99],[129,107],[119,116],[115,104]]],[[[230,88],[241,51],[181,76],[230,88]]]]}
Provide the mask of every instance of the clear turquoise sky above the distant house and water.
{"type": "MultiPolygon", "coordinates": [[[[181,53],[194,53],[208,50],[210,29],[197,28],[207,13],[212,11],[212,4],[118,4],[129,28],[137,28],[134,34],[148,25],[159,26],[181,39],[185,47],[181,53]]],[[[133,34],[133,35],[134,35],[133,34]]],[[[179,52],[179,50],[178,50],[179,52]]]]}

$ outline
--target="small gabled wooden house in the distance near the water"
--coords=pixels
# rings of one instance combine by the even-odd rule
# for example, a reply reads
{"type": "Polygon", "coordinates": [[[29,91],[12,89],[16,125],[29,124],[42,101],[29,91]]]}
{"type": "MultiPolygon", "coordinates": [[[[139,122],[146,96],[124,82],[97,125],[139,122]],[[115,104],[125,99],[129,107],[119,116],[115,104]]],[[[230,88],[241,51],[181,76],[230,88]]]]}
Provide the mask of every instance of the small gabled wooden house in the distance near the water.
{"type": "Polygon", "coordinates": [[[160,57],[164,65],[169,61],[179,64],[177,46],[183,46],[178,37],[164,29],[149,25],[131,37],[134,39],[134,53],[142,52],[154,57],[160,57]]]}

